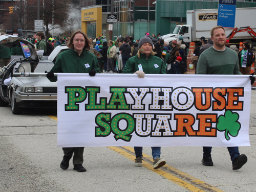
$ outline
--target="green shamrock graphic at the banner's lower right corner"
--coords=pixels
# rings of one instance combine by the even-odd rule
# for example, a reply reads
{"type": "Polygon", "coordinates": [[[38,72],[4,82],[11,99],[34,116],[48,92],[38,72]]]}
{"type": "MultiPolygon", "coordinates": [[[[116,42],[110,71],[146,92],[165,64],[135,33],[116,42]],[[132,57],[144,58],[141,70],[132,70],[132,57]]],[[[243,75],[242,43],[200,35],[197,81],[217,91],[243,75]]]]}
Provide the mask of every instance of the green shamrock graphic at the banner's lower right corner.
{"type": "Polygon", "coordinates": [[[241,124],[238,122],[239,114],[232,113],[232,111],[226,111],[224,115],[220,115],[218,118],[217,129],[219,131],[225,131],[225,138],[230,139],[228,136],[238,136],[238,132],[241,128],[241,124]]]}

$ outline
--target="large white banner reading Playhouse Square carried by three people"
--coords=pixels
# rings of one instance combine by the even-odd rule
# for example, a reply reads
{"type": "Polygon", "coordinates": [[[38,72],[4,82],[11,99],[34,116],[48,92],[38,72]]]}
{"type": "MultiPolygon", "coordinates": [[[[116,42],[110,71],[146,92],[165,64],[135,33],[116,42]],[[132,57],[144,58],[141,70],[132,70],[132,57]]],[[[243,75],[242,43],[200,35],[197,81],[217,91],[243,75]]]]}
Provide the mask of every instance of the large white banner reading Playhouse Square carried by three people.
{"type": "Polygon", "coordinates": [[[242,75],[58,74],[58,147],[250,146],[242,75]]]}

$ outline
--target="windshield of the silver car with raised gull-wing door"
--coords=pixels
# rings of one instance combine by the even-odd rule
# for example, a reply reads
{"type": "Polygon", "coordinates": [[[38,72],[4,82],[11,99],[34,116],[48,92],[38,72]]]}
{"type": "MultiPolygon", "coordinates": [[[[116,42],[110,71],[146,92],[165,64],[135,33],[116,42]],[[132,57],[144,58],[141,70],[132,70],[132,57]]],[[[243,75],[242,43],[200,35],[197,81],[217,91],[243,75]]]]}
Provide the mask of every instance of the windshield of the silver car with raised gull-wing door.
{"type": "Polygon", "coordinates": [[[44,62],[23,62],[16,72],[18,73],[45,73],[45,71],[50,71],[54,66],[53,63],[44,62]]]}

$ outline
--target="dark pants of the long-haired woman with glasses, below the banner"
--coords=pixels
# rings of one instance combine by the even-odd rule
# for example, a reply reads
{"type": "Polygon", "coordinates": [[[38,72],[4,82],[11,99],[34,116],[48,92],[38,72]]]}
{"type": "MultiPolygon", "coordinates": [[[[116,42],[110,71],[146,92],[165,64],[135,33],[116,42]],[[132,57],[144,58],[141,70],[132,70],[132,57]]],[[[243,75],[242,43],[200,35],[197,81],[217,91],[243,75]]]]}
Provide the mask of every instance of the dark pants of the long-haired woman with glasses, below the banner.
{"type": "Polygon", "coordinates": [[[73,164],[82,164],[84,148],[62,148],[64,155],[71,156],[73,153],[73,164]]]}

